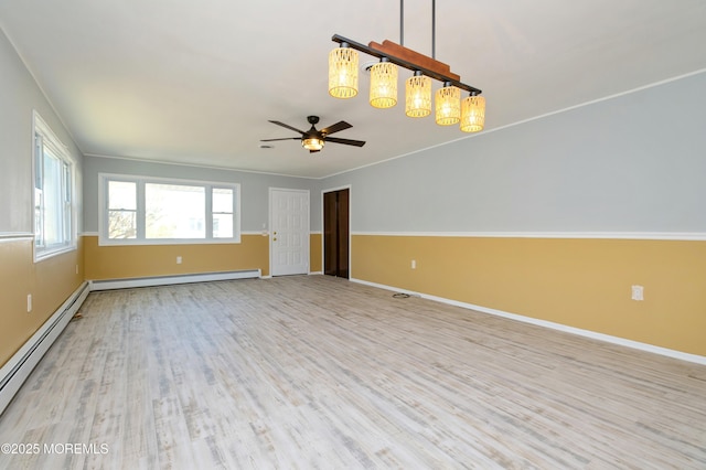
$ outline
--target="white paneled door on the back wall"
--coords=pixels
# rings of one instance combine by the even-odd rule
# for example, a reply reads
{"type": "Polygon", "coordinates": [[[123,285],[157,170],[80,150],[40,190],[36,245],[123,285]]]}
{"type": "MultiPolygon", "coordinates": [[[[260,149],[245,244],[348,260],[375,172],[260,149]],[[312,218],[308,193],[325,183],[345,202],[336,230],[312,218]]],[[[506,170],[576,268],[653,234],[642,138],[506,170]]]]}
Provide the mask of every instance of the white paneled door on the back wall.
{"type": "Polygon", "coordinates": [[[270,274],[309,273],[309,191],[269,190],[270,274]]]}

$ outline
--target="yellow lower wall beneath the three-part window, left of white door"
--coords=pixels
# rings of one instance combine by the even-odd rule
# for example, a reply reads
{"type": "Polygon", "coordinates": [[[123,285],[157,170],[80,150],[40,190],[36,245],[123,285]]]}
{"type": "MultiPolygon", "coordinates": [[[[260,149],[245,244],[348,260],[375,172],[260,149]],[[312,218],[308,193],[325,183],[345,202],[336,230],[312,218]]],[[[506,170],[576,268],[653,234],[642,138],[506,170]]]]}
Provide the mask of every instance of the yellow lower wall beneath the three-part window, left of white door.
{"type": "Polygon", "coordinates": [[[269,275],[268,238],[243,235],[239,244],[98,246],[84,237],[86,279],[125,279],[261,269],[269,275]],[[176,264],[176,257],[182,264],[176,264]]]}

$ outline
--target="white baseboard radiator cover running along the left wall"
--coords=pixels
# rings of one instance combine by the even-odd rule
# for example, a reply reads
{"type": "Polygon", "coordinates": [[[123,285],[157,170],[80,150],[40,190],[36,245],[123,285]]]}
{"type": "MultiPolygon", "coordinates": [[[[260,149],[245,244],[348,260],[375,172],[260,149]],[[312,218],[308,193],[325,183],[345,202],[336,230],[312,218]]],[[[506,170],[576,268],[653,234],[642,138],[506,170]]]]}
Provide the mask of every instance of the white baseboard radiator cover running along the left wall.
{"type": "Polygon", "coordinates": [[[78,289],[50,317],[20,350],[0,368],[0,415],[10,404],[40,360],[66,328],[90,292],[88,282],[78,289]]]}

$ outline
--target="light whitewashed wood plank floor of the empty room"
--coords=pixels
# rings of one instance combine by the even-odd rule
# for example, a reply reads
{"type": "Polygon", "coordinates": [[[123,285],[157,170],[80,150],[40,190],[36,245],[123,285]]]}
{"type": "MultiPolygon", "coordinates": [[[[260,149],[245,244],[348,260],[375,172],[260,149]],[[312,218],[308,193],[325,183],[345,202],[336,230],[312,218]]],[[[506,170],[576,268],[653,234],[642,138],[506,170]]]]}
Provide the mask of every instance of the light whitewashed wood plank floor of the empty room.
{"type": "Polygon", "coordinates": [[[0,442],[93,450],[1,468],[706,469],[696,364],[324,276],[94,292],[82,313],[0,442]]]}

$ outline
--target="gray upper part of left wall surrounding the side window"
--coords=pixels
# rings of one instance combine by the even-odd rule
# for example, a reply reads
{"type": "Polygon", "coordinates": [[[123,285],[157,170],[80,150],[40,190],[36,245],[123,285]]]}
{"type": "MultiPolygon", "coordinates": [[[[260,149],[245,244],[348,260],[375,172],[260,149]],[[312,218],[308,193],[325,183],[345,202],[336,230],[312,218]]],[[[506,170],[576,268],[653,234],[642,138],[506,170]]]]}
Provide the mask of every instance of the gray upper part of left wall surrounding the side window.
{"type": "Polygon", "coordinates": [[[0,30],[0,234],[33,232],[32,111],[68,146],[75,164],[77,229],[82,229],[82,154],[14,47],[0,30]]]}

